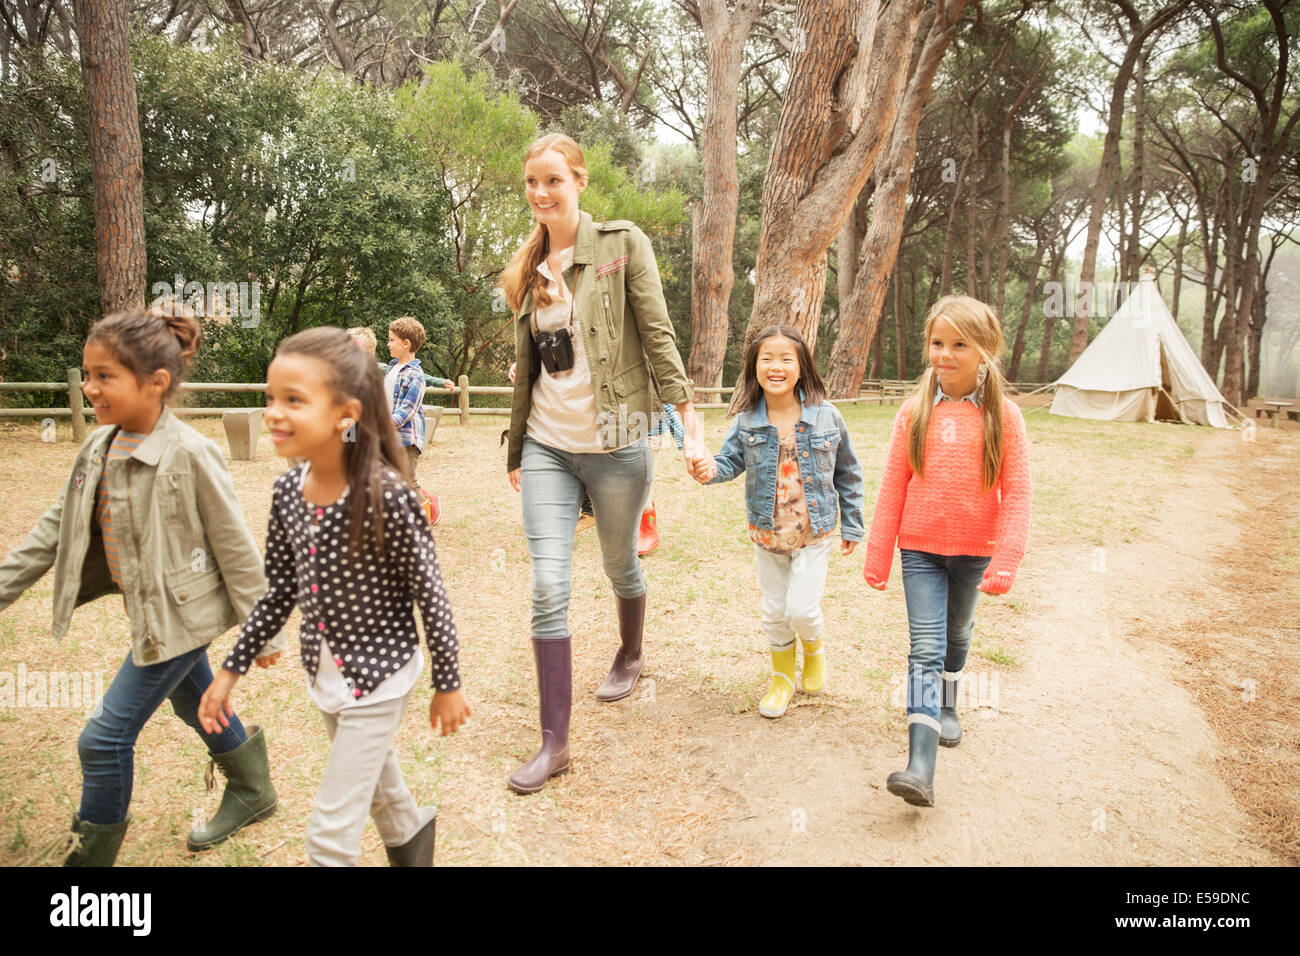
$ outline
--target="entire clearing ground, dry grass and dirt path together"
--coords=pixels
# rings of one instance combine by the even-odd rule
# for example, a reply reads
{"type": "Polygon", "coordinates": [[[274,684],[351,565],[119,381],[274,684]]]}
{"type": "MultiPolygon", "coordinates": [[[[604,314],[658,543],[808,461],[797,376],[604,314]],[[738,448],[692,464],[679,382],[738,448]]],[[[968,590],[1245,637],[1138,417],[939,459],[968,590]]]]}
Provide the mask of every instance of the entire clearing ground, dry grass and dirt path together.
{"type": "MultiPolygon", "coordinates": [[[[894,410],[846,410],[868,509],[894,410]]],[[[907,633],[897,563],[885,593],[861,551],[827,583],[827,693],[758,715],[766,654],[744,533],[742,483],[699,488],[656,455],[663,545],[646,558],[649,661],[632,698],[597,704],[615,617],[594,532],[575,554],[573,769],[519,797],[506,775],[532,754],[537,696],[526,643],[528,553],[499,425],[438,432],[421,464],[442,494],[438,551],[463,637],[474,715],[446,740],[420,688],[398,737],[403,773],[438,803],[441,864],[1279,864],[1300,862],[1300,441],[1260,429],[1097,423],[1026,412],[1035,481],[1030,550],[1011,592],[982,597],[963,705],[942,750],[937,806],[888,795],[902,766],[907,633]]],[[[716,449],[722,414],[706,412],[716,449]]],[[[217,423],[200,423],[217,437],[217,423]]],[[[233,464],[259,542],[278,460],[233,464]]],[[[0,550],[16,546],[75,449],[0,427],[0,550]]],[[[870,518],[870,514],[868,514],[870,518]]],[[[0,614],[0,671],[104,672],[125,654],[120,602],[81,609],[48,636],[43,579],[0,614]]],[[[296,620],[296,617],[295,617],[296,620]]],[[[214,663],[229,648],[220,640],[214,663]]],[[[295,641],[290,641],[291,648],[295,641]]],[[[239,684],[266,727],[278,813],[203,855],[211,814],[198,737],[164,708],[136,748],[124,865],[296,865],[325,760],[295,654],[239,684]]],[[[0,864],[35,860],[65,831],[79,788],[84,713],[0,708],[0,864]]],[[[48,862],[48,860],[46,860],[48,862]]],[[[363,862],[382,865],[373,827],[363,862]]]]}

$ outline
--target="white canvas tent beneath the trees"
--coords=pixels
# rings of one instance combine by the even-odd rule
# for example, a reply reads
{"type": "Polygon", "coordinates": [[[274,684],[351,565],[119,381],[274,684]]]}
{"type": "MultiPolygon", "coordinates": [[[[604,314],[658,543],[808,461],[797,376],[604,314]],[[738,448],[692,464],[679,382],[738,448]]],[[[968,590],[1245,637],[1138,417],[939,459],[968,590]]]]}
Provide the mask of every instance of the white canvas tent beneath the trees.
{"type": "Polygon", "coordinates": [[[1132,286],[1114,317],[1056,386],[1053,415],[1228,427],[1223,395],[1183,338],[1149,274],[1132,286]]]}

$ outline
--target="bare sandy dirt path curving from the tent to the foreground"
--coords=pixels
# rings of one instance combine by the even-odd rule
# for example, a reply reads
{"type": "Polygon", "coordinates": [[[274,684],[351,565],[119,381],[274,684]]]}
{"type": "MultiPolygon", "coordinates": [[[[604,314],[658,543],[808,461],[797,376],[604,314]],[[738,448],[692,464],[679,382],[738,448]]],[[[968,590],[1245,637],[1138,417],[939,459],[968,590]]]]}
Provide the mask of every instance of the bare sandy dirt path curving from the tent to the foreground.
{"type": "Polygon", "coordinates": [[[1257,523],[1247,502],[1300,486],[1294,455],[1243,479],[1244,454],[1202,442],[1143,540],[1035,559],[1018,587],[1037,636],[1002,675],[996,713],[967,713],[962,745],[940,750],[935,809],[884,791],[905,763],[897,730],[881,739],[832,710],[763,728],[762,749],[757,734],[706,732],[715,745],[702,762],[723,778],[748,771],[736,795],[748,813],[718,832],[718,848],[774,864],[1282,862],[1216,771],[1222,748],[1184,687],[1195,661],[1164,640],[1249,600],[1221,587],[1251,574],[1225,563],[1257,523]]]}

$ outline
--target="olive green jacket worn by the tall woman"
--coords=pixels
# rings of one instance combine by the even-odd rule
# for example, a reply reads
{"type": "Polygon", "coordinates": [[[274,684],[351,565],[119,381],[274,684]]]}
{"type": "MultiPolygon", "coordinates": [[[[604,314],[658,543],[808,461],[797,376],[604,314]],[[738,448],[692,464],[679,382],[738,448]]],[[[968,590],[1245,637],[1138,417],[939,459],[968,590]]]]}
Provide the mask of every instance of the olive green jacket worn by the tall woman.
{"type": "MultiPolygon", "coordinates": [[[[576,325],[586,349],[595,395],[597,433],[610,447],[646,433],[664,403],[693,399],[690,382],[668,319],[650,239],[627,220],[594,222],[581,213],[573,242],[576,325]],[[629,423],[630,419],[630,423],[629,423]]],[[[515,316],[515,401],[511,407],[506,470],[520,466],[524,431],[541,371],[533,343],[533,295],[515,316]]]]}

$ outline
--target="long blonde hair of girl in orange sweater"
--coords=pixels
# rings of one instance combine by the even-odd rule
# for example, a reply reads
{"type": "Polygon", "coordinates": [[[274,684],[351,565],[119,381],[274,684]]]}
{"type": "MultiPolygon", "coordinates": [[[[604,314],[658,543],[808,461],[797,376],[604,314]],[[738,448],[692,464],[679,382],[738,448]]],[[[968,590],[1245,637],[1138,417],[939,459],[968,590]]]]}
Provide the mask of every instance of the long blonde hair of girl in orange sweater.
{"type": "Polygon", "coordinates": [[[939,378],[930,365],[930,341],[935,334],[935,323],[946,319],[957,330],[958,337],[979,351],[980,362],[988,367],[984,380],[984,401],[980,415],[984,420],[984,490],[996,483],[1002,468],[1002,406],[1006,402],[1006,380],[1002,377],[1001,356],[1006,349],[1002,338],[1002,325],[993,310],[970,295],[945,295],[936,302],[926,316],[924,346],[922,362],[926,371],[918,380],[911,425],[907,429],[907,460],[911,470],[922,473],[926,464],[926,436],[930,431],[930,414],[939,394],[939,378]]]}

